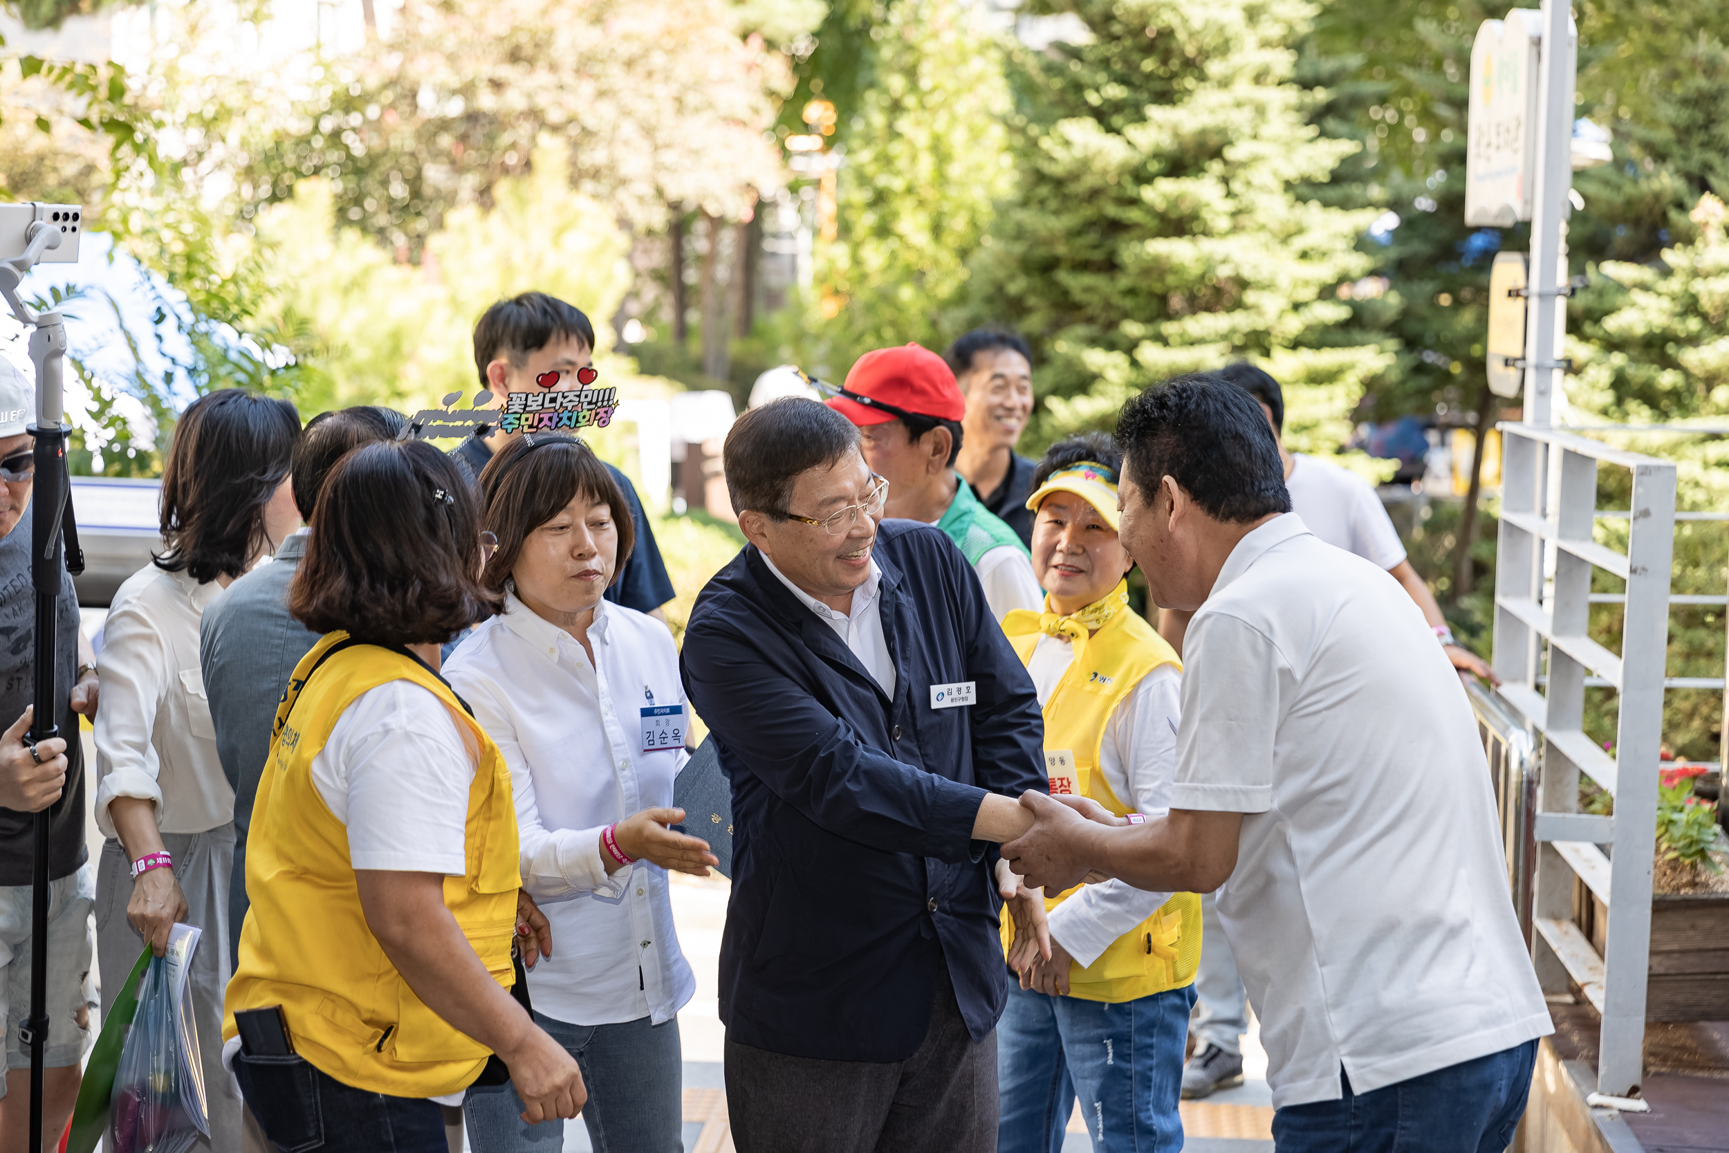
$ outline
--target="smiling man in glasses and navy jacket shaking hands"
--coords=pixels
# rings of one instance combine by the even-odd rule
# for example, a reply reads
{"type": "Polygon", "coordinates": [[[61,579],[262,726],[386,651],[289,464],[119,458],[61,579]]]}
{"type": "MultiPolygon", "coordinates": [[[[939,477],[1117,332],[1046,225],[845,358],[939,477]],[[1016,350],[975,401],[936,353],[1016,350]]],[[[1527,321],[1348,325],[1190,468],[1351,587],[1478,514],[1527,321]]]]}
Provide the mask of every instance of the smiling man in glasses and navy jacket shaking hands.
{"type": "Polygon", "coordinates": [[[998,857],[1046,790],[1044,724],[972,565],[882,522],[885,482],[814,401],[745,413],[749,545],[697,598],[685,688],[733,792],[721,942],[740,1153],[996,1148],[998,857]]]}

